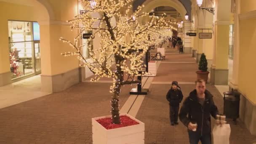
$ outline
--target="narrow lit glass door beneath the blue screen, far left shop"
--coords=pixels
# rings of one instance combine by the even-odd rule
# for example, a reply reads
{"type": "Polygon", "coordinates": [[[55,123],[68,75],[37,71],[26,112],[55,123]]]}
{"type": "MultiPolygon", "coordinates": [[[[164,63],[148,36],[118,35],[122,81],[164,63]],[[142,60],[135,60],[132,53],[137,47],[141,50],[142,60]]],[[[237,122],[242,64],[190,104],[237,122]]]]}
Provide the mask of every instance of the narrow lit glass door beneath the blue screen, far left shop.
{"type": "Polygon", "coordinates": [[[40,41],[35,41],[34,47],[35,47],[35,71],[36,71],[36,74],[40,74],[41,73],[40,41]]]}

